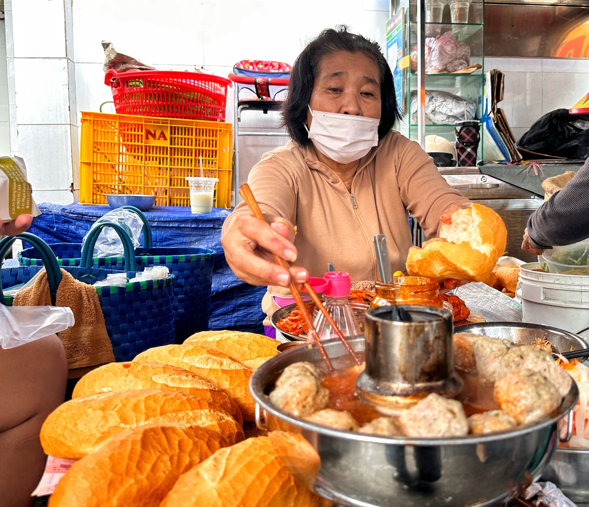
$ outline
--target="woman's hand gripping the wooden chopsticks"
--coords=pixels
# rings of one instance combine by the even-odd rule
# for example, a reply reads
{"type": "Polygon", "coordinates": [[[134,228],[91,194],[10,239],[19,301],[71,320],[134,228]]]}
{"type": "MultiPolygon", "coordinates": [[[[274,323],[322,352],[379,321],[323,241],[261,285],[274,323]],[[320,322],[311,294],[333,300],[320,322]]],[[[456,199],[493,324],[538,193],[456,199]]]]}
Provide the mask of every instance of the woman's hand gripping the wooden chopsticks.
{"type": "Polygon", "coordinates": [[[264,213],[264,220],[239,214],[221,237],[227,264],[241,280],[252,285],[287,287],[292,280],[304,283],[309,276],[302,267],[283,269],[273,255],[294,262],[297,256],[293,225],[282,217],[264,213]]]}

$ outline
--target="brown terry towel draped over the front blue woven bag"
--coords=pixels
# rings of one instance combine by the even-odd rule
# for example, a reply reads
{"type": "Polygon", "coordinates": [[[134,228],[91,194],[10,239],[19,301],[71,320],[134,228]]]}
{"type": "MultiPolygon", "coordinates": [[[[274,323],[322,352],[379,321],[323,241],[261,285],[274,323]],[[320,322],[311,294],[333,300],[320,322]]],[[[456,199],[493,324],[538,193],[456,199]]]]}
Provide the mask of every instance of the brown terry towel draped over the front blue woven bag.
{"type": "MultiPolygon", "coordinates": [[[[47,273],[43,271],[31,287],[16,293],[13,304],[15,306],[50,305],[47,273]]],[[[94,287],[74,280],[70,273],[62,269],[55,306],[68,306],[74,313],[74,326],[58,333],[68,357],[70,378],[80,377],[90,366],[114,362],[112,344],[94,287]]]]}

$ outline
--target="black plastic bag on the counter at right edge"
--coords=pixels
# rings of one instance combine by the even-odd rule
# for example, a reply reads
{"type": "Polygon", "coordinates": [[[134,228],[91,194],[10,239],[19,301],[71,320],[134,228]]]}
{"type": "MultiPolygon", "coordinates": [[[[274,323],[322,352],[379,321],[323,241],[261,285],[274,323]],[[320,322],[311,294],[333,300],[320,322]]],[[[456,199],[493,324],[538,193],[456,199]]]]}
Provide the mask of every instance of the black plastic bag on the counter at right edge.
{"type": "MultiPolygon", "coordinates": [[[[517,145],[526,150],[557,155],[558,150],[565,144],[584,132],[573,125],[573,122],[577,120],[589,120],[589,114],[569,114],[568,109],[550,111],[534,122],[530,130],[522,135],[517,145]]],[[[567,149],[570,151],[571,148],[567,149]]]]}

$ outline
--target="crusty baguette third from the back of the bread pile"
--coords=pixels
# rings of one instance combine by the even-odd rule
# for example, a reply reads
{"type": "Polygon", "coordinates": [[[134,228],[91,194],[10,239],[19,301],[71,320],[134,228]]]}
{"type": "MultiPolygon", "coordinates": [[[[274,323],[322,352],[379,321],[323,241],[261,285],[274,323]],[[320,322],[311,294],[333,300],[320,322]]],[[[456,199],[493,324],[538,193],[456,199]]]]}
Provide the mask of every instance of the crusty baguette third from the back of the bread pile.
{"type": "Polygon", "coordinates": [[[209,380],[184,368],[160,363],[108,363],[84,375],[74,387],[73,398],[129,389],[168,389],[198,396],[219,405],[243,424],[241,410],[209,380]]]}

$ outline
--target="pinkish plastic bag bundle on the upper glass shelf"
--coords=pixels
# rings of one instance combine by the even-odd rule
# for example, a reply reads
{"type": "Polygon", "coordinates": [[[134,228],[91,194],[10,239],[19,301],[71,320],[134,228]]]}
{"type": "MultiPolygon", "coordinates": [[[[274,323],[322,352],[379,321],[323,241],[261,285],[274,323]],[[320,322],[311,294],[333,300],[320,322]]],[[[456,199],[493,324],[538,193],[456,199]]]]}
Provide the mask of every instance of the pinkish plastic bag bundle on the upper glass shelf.
{"type": "MultiPolygon", "coordinates": [[[[471,64],[471,48],[452,39],[454,32],[425,39],[425,73],[456,72],[471,64]]],[[[417,47],[411,48],[411,72],[417,71],[417,47]]]]}

